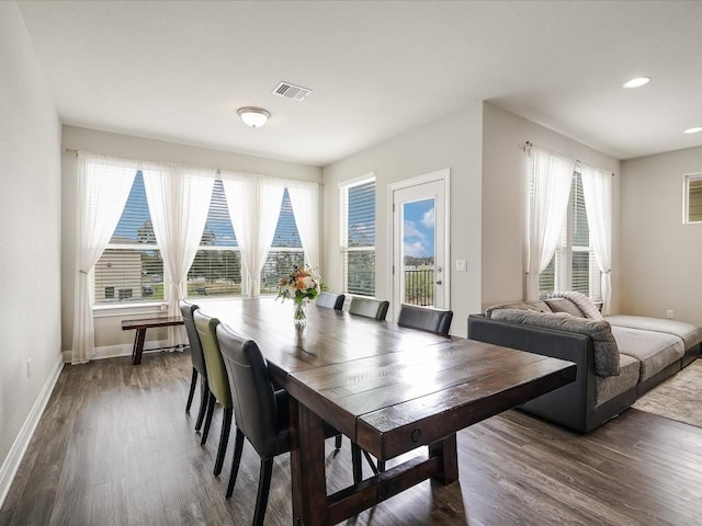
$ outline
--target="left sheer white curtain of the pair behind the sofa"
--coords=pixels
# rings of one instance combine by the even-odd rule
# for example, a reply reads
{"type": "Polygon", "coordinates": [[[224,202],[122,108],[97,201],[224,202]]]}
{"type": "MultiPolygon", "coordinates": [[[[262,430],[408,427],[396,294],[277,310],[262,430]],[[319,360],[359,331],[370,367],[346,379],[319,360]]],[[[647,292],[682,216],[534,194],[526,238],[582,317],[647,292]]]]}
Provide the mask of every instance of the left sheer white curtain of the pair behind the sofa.
{"type": "Polygon", "coordinates": [[[539,274],[553,258],[568,208],[575,161],[539,147],[529,156],[526,300],[539,299],[539,274]]]}

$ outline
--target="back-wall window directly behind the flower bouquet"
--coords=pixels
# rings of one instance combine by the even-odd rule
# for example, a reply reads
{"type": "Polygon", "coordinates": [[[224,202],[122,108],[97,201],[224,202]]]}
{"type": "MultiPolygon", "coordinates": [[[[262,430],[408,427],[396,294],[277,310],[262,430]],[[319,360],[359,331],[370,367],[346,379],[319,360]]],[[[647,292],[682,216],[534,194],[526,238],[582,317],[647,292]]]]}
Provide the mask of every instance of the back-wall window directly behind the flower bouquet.
{"type": "Polygon", "coordinates": [[[302,266],[304,263],[303,243],[297,232],[290,195],[285,188],[271,250],[261,271],[261,294],[278,293],[281,276],[290,274],[294,266],[302,266]]]}

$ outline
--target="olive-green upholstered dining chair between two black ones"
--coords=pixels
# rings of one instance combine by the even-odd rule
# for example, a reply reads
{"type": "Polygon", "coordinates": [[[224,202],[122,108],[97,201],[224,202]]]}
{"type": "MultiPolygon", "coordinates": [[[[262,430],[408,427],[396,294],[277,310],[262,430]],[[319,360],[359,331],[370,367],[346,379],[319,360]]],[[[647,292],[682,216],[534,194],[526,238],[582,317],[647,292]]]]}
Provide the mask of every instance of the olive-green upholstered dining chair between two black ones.
{"type": "Polygon", "coordinates": [[[202,344],[203,355],[205,356],[205,367],[207,369],[207,385],[210,387],[210,400],[207,401],[207,415],[205,416],[205,428],[202,433],[202,442],[204,444],[210,433],[212,416],[216,402],[222,404],[224,414],[222,416],[222,434],[219,435],[219,447],[217,449],[217,458],[215,459],[215,474],[222,472],[224,465],[224,456],[227,453],[227,443],[229,442],[229,431],[231,430],[231,391],[229,390],[229,379],[222,359],[219,343],[217,341],[217,325],[219,320],[204,315],[201,310],[193,312],[193,320],[202,344]]]}

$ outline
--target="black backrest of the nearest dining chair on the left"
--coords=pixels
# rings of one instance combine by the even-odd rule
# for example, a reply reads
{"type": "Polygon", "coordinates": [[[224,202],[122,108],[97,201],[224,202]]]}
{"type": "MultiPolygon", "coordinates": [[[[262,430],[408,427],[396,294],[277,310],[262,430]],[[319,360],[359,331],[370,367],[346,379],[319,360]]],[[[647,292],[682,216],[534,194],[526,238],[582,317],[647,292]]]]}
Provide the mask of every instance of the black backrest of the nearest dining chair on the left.
{"type": "Polygon", "coordinates": [[[217,327],[217,339],[231,386],[237,427],[261,458],[279,455],[279,421],[275,391],[268,363],[253,340],[247,340],[228,325],[217,327]]]}

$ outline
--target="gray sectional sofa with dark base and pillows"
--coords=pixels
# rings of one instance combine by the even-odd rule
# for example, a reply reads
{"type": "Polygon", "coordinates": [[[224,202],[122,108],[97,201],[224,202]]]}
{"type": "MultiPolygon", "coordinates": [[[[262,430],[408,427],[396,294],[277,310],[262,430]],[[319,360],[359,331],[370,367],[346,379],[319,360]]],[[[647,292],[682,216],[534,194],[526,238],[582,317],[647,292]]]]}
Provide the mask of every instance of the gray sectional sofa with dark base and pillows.
{"type": "Polygon", "coordinates": [[[602,318],[578,293],[503,304],[468,317],[468,339],[578,366],[574,384],[520,409],[588,433],[700,355],[702,328],[638,316],[602,318]]]}

